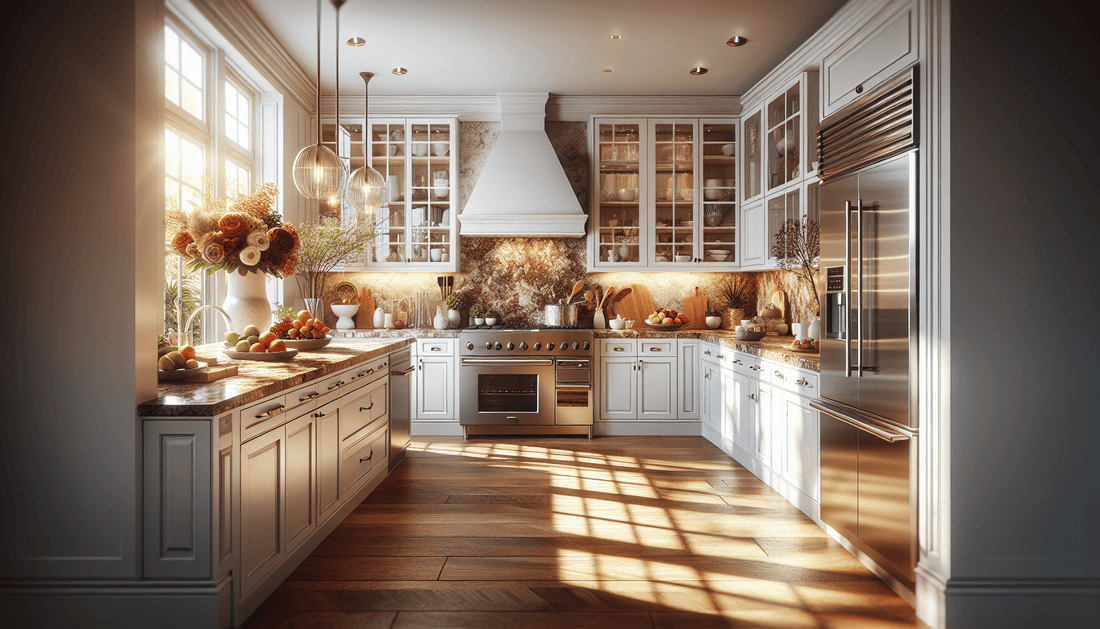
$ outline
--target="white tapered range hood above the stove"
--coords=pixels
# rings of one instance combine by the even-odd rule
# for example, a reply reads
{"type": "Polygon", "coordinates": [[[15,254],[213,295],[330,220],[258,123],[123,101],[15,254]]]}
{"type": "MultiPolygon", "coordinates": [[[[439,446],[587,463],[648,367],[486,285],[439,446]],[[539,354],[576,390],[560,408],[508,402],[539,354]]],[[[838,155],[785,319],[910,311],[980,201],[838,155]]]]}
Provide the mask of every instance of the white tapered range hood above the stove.
{"type": "Polygon", "coordinates": [[[547,92],[498,93],[501,135],[466,207],[463,236],[583,236],[588,217],[546,134],[547,92]]]}

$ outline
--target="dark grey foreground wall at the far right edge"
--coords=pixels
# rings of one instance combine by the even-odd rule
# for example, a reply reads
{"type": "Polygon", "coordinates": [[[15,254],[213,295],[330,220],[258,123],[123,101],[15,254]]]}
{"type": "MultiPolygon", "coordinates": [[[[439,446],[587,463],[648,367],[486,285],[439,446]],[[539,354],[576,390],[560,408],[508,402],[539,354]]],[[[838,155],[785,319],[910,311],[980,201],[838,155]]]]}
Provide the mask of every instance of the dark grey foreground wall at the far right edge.
{"type": "Polygon", "coordinates": [[[1100,614],[1089,4],[950,4],[952,580],[1091,587],[1043,602],[1009,587],[1019,596],[980,621],[956,600],[953,627],[1069,627],[1100,614]]]}

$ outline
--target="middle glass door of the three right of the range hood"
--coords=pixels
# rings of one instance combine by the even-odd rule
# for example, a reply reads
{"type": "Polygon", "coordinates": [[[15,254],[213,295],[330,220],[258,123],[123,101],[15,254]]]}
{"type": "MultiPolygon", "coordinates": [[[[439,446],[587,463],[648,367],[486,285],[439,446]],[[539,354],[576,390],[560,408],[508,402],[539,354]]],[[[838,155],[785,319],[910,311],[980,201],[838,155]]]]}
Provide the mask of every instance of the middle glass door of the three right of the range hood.
{"type": "Polygon", "coordinates": [[[695,128],[692,123],[653,126],[653,258],[690,264],[695,260],[695,128]]]}

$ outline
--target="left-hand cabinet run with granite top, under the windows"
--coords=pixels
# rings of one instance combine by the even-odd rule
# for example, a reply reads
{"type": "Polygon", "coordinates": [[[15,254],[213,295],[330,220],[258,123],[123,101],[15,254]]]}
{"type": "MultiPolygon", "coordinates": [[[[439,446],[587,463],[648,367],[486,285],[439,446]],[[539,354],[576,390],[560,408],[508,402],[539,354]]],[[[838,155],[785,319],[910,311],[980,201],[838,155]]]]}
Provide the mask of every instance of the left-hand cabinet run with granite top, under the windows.
{"type": "Polygon", "coordinates": [[[388,474],[389,365],[413,342],[334,339],[287,362],[197,347],[238,374],[163,382],[138,406],[142,595],[185,608],[178,626],[248,618],[388,474]]]}

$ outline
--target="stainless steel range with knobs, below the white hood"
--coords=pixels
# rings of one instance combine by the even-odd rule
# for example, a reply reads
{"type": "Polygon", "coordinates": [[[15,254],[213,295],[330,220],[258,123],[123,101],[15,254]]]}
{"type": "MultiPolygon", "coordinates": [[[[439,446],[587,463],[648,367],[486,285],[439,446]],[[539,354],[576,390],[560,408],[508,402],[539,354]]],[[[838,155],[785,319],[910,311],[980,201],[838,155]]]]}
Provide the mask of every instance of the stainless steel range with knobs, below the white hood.
{"type": "Polygon", "coordinates": [[[459,334],[459,421],[470,434],[592,438],[592,330],[483,329],[459,334]]]}

